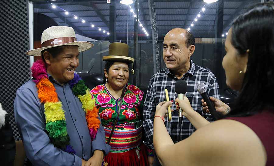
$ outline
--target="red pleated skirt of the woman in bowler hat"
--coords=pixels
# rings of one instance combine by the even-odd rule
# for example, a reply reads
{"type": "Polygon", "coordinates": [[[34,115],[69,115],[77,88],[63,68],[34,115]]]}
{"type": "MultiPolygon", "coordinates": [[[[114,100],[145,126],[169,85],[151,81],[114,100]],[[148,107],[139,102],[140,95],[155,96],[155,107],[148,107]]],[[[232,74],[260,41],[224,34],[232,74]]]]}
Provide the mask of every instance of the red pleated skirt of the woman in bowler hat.
{"type": "Polygon", "coordinates": [[[149,166],[146,146],[141,143],[139,147],[141,148],[140,150],[134,148],[122,153],[109,152],[104,157],[104,161],[108,163],[107,166],[149,166]],[[139,151],[139,158],[136,150],[139,151]]]}

